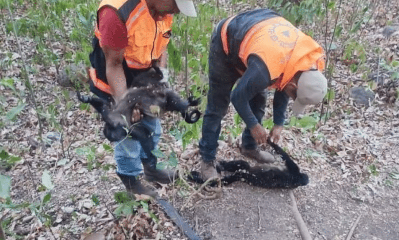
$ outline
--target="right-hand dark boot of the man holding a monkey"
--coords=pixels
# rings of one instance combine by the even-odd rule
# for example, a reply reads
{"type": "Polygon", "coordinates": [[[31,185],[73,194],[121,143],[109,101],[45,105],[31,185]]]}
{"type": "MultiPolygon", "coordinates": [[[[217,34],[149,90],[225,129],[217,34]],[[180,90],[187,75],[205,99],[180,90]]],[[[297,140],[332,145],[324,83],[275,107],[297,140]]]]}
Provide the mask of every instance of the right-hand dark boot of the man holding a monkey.
{"type": "Polygon", "coordinates": [[[144,179],[149,182],[170,183],[179,176],[177,172],[170,169],[157,169],[156,164],[144,163],[144,179]]]}

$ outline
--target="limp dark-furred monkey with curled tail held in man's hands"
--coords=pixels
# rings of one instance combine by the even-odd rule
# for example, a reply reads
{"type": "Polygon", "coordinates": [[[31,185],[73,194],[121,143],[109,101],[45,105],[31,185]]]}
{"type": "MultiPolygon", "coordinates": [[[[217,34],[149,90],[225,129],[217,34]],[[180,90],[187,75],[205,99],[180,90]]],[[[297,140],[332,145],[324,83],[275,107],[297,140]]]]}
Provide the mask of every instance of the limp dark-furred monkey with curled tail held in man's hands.
{"type": "Polygon", "coordinates": [[[105,122],[104,135],[110,141],[118,141],[129,135],[136,139],[147,138],[151,133],[141,129],[140,123],[131,122],[134,108],[139,109],[146,117],[158,117],[165,111],[179,111],[187,123],[195,123],[201,116],[200,111],[187,112],[189,106],[197,106],[199,100],[192,97],[184,100],[170,89],[159,71],[146,71],[138,75],[122,100],[114,105],[97,97],[82,97],[78,92],[78,99],[83,103],[90,103],[102,116],[105,122]],[[155,111],[152,109],[156,109],[155,111]]]}

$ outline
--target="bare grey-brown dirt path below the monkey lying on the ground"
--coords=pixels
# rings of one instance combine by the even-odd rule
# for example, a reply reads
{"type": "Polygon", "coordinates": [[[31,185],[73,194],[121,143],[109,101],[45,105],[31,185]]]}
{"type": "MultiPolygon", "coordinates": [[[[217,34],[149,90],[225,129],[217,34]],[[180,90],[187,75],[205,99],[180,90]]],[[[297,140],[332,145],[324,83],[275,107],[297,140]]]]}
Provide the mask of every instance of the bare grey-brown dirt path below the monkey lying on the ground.
{"type": "MultiPolygon", "coordinates": [[[[311,181],[294,195],[314,239],[346,239],[359,216],[351,239],[399,239],[397,187],[359,190],[369,197],[362,201],[353,186],[311,181]]],[[[198,200],[183,215],[204,239],[301,239],[290,206],[287,190],[235,183],[223,189],[222,198],[198,200]]]]}

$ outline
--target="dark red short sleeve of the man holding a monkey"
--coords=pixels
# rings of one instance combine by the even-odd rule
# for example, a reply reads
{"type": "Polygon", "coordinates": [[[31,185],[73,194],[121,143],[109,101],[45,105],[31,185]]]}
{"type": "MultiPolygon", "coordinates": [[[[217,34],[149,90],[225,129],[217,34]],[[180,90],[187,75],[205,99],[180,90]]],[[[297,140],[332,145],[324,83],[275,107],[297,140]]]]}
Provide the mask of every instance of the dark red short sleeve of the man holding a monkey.
{"type": "Polygon", "coordinates": [[[100,46],[108,46],[113,50],[119,51],[127,46],[126,25],[119,17],[115,9],[103,7],[98,13],[100,46]]]}

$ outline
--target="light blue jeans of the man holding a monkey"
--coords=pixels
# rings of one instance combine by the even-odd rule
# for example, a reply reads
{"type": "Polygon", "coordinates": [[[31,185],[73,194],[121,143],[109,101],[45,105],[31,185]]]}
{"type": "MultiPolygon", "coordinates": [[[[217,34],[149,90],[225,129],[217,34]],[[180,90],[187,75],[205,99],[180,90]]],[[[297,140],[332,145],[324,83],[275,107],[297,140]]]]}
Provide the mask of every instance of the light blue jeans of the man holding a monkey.
{"type": "MultiPolygon", "coordinates": [[[[161,123],[159,118],[144,117],[141,125],[152,132],[149,140],[153,142],[156,148],[161,136],[161,123]]],[[[117,173],[126,176],[137,176],[143,171],[141,161],[148,159],[138,140],[125,138],[119,142],[114,142],[115,161],[117,164],[117,173]]],[[[157,164],[157,159],[152,158],[151,164],[157,164]]]]}

